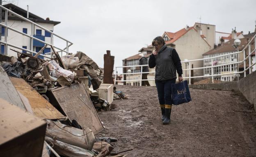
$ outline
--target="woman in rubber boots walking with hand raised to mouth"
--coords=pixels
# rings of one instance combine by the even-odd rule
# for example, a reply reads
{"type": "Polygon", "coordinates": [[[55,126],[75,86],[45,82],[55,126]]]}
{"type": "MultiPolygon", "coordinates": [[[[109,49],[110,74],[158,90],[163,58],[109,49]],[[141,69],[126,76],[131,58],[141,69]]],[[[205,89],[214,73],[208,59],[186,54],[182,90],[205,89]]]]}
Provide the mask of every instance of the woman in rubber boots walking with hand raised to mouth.
{"type": "Polygon", "coordinates": [[[149,56],[149,68],[155,68],[155,85],[162,112],[162,123],[169,124],[171,119],[171,84],[183,80],[181,59],[174,48],[167,47],[165,40],[158,36],[152,41],[155,51],[149,56]]]}

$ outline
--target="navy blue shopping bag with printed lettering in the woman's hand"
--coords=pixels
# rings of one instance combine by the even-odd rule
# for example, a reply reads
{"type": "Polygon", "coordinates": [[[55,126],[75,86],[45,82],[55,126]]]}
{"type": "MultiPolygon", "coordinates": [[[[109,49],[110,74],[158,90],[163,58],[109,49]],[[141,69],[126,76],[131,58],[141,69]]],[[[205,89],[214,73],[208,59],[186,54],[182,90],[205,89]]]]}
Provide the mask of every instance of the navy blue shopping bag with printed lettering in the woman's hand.
{"type": "Polygon", "coordinates": [[[174,105],[179,105],[191,101],[187,81],[171,84],[171,99],[174,105]]]}

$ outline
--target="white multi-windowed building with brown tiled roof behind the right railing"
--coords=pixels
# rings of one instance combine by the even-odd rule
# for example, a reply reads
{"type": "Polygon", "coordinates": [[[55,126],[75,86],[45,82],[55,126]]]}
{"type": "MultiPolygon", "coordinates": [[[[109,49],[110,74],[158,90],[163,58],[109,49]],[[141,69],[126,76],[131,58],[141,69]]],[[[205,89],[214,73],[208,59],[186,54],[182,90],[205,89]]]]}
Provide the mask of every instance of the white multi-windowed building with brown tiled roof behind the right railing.
{"type": "MultiPolygon", "coordinates": [[[[242,49],[244,49],[244,47],[248,44],[249,40],[251,39],[249,37],[253,37],[253,34],[251,34],[251,35],[242,35],[242,33],[237,33],[237,34],[238,34],[238,36],[236,36],[235,31],[232,31],[230,40],[228,40],[227,42],[224,42],[222,44],[218,44],[218,46],[215,45],[213,49],[211,49],[210,51],[203,54],[203,58],[216,57],[219,55],[225,55],[225,54],[236,52],[237,49],[233,45],[234,45],[234,40],[237,38],[240,38],[240,41],[241,41],[241,44],[238,46],[238,50],[242,51],[242,49]],[[245,38],[241,38],[241,36],[245,37],[245,38]]],[[[254,50],[254,44],[251,44],[251,46],[252,46],[251,50],[254,50]]],[[[245,51],[246,51],[246,55],[248,55],[248,49],[246,49],[245,51]]],[[[214,58],[213,65],[216,66],[216,65],[221,65],[221,64],[228,64],[228,63],[242,61],[243,60],[242,55],[243,54],[240,53],[240,54],[227,55],[224,57],[214,58]]],[[[252,63],[254,63],[254,62],[255,62],[255,53],[252,56],[252,63]]],[[[210,59],[204,60],[203,66],[204,67],[209,66],[209,68],[204,69],[203,75],[204,76],[212,75],[212,71],[211,71],[211,67],[210,67],[210,66],[212,66],[212,60],[210,60],[210,59]]],[[[240,65],[231,64],[231,65],[218,66],[218,67],[213,68],[213,75],[238,72],[239,69],[243,70],[243,63],[240,65]]],[[[253,67],[252,71],[255,71],[255,67],[253,67]]],[[[238,77],[238,74],[233,74],[233,75],[221,75],[221,76],[217,76],[214,78],[215,78],[215,80],[221,80],[221,81],[233,81],[233,80],[237,80],[237,77],[238,77]]]]}

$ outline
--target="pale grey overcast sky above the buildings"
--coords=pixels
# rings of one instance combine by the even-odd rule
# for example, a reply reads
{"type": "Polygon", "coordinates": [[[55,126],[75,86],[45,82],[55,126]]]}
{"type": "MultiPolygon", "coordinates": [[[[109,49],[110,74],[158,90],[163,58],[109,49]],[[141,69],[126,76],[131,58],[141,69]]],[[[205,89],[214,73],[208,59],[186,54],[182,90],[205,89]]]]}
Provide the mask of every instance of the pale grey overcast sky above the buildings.
{"type": "MultiPolygon", "coordinates": [[[[103,67],[106,50],[115,65],[138,53],[165,31],[176,32],[195,22],[253,32],[256,0],[16,0],[15,5],[41,18],[60,21],[54,32],[73,42],[69,51],[82,51],[103,67]]],[[[56,46],[64,43],[55,40],[56,46]]]]}

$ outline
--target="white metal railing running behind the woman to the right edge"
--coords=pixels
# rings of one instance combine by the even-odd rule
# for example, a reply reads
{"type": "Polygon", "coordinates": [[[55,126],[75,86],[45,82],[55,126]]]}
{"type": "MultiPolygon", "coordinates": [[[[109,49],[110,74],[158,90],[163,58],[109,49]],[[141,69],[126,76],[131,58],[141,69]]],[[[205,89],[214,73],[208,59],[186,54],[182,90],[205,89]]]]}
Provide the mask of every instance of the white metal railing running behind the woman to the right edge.
{"type": "MultiPolygon", "coordinates": [[[[246,77],[246,71],[248,71],[249,69],[249,74],[252,72],[252,66],[256,65],[255,63],[251,63],[251,55],[252,53],[256,53],[256,35],[254,35],[253,38],[251,38],[251,40],[249,41],[249,43],[244,47],[244,49],[242,49],[242,51],[238,51],[238,52],[234,52],[234,53],[228,53],[228,54],[224,54],[224,55],[218,55],[218,56],[214,56],[214,57],[208,57],[208,58],[201,58],[201,59],[196,59],[196,60],[188,60],[188,61],[182,61],[181,63],[185,63],[188,64],[189,68],[188,69],[183,69],[183,71],[189,71],[189,76],[188,77],[183,77],[183,79],[189,79],[189,84],[191,84],[191,79],[192,78],[200,78],[200,77],[212,77],[212,82],[214,77],[216,76],[221,76],[221,75],[234,75],[234,74],[240,74],[240,73],[244,73],[244,77],[246,77]],[[251,51],[251,44],[254,41],[254,50],[251,51]],[[245,50],[248,49],[248,55],[246,56],[245,54],[245,50]],[[231,55],[238,55],[239,53],[243,53],[243,60],[242,61],[238,61],[238,62],[231,62],[231,55]],[[226,64],[219,64],[219,65],[214,65],[214,59],[218,58],[218,57],[224,57],[224,56],[230,56],[230,62],[226,63],[226,64]],[[246,68],[246,60],[249,59],[249,66],[246,68]],[[211,66],[203,66],[203,67],[199,67],[199,68],[191,68],[191,62],[195,62],[195,61],[204,61],[204,60],[211,60],[211,66]],[[239,64],[243,63],[244,64],[244,70],[243,71],[239,71],[239,64]],[[232,72],[231,71],[231,64],[237,64],[237,72],[232,72]],[[229,65],[229,73],[220,73],[220,74],[214,74],[213,73],[213,69],[215,67],[219,67],[219,66],[226,66],[229,65]],[[191,76],[191,71],[192,70],[197,70],[197,69],[206,69],[206,68],[210,68],[211,69],[211,75],[201,75],[201,76],[191,76]]],[[[238,57],[237,57],[238,59],[238,57]]],[[[140,86],[142,84],[142,81],[150,81],[150,80],[155,80],[155,79],[147,79],[147,80],[142,80],[142,74],[143,73],[155,73],[155,71],[152,72],[142,72],[142,67],[143,66],[148,66],[146,65],[136,65],[136,66],[117,66],[115,67],[116,70],[116,75],[115,75],[115,81],[114,84],[116,84],[116,82],[140,82],[140,86]],[[117,73],[117,68],[128,68],[128,67],[140,67],[140,72],[139,73],[117,73]],[[132,74],[140,74],[141,75],[141,79],[139,80],[117,80],[117,76],[118,75],[132,75],[132,74]]],[[[239,77],[238,77],[239,78],[239,77]]]]}

